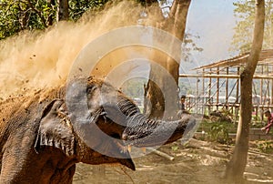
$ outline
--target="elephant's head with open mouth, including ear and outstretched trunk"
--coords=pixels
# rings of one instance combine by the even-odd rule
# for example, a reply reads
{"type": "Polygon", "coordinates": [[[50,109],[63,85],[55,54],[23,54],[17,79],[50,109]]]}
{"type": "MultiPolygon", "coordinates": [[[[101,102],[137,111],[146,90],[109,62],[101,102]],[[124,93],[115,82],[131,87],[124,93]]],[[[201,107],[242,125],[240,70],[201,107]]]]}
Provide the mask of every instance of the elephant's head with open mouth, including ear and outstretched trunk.
{"type": "Polygon", "coordinates": [[[66,97],[45,107],[35,150],[53,146],[84,163],[117,162],[135,169],[124,146],[173,142],[182,137],[188,123],[195,121],[190,116],[177,121],[148,119],[131,99],[103,80],[76,79],[66,87],[66,97]]]}

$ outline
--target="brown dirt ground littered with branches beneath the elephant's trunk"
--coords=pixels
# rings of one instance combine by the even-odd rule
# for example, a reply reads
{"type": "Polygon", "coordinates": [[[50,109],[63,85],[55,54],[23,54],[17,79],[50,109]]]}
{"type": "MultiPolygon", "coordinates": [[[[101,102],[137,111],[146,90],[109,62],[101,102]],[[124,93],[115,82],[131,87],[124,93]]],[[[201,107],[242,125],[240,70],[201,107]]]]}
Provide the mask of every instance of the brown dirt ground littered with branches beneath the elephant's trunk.
{"type": "MultiPolygon", "coordinates": [[[[232,147],[191,139],[186,146],[180,141],[158,148],[173,160],[155,152],[134,158],[136,171],[121,166],[78,164],[75,184],[86,183],[225,183],[222,179],[232,147]]],[[[139,150],[138,150],[139,151],[139,150]]],[[[273,155],[258,152],[250,143],[246,183],[273,183],[273,155]]]]}

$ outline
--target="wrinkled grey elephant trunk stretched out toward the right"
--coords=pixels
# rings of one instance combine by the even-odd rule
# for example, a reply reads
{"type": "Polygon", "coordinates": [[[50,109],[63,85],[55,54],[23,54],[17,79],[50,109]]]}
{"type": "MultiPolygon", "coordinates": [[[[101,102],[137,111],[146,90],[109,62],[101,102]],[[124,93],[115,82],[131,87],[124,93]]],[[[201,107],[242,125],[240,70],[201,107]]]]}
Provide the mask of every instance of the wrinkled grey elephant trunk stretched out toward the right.
{"type": "Polygon", "coordinates": [[[149,119],[138,113],[127,119],[122,138],[136,147],[155,147],[182,138],[187,129],[195,128],[196,120],[185,114],[176,121],[149,119]]]}

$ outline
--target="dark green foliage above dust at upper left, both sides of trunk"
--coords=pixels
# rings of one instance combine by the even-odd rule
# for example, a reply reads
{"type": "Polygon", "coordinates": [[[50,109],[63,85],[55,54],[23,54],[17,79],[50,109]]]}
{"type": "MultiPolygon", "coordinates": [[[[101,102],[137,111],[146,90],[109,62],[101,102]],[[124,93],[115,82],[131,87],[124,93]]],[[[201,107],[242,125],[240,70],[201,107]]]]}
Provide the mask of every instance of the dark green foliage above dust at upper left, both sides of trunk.
{"type": "MultiPolygon", "coordinates": [[[[76,21],[88,9],[98,9],[108,0],[70,0],[70,20],[76,21]]],[[[25,0],[9,1],[0,0],[0,39],[13,36],[28,29],[45,29],[56,23],[58,1],[25,0]]]]}

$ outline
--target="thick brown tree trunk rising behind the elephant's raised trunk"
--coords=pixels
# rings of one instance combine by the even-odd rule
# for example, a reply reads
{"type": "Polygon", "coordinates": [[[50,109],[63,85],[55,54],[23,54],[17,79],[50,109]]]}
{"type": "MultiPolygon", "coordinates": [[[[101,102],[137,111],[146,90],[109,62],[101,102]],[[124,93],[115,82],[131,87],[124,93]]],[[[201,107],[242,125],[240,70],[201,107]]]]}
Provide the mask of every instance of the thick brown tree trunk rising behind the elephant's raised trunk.
{"type": "MultiPolygon", "coordinates": [[[[190,2],[190,0],[174,0],[169,16],[165,20],[163,27],[161,27],[173,36],[177,36],[181,41],[185,35],[187,11],[190,2]]],[[[170,46],[172,46],[171,43],[170,46]]],[[[165,115],[168,118],[174,118],[178,108],[177,84],[180,61],[175,61],[168,56],[161,56],[155,59],[157,64],[165,69],[158,69],[158,65],[151,65],[147,83],[147,96],[145,97],[145,100],[150,103],[146,103],[145,113],[149,118],[162,118],[164,113],[166,113],[165,115]],[[176,84],[174,85],[172,81],[175,81],[176,84]],[[165,97],[163,97],[163,94],[165,97]]]]}

